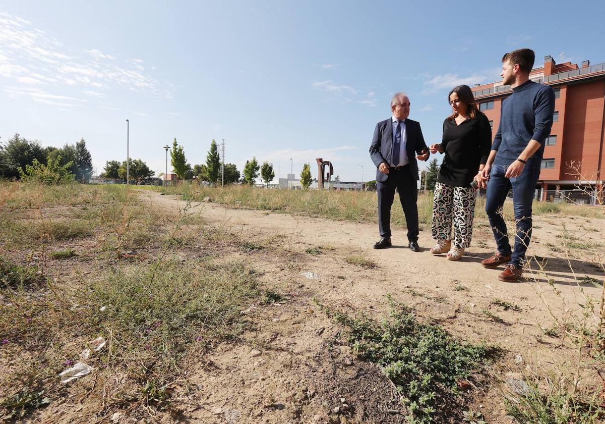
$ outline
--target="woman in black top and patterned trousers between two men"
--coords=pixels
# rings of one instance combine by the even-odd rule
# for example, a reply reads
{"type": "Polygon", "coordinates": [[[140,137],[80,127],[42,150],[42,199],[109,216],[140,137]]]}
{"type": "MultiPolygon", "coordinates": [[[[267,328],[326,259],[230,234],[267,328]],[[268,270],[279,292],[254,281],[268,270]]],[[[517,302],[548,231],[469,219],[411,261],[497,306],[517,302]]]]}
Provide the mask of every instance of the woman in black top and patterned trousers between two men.
{"type": "Polygon", "coordinates": [[[477,108],[468,85],[451,90],[448,100],[453,113],[443,121],[443,140],[430,147],[431,153],[445,153],[435,185],[432,233],[437,244],[431,253],[447,252],[449,260],[458,260],[473,233],[477,193],[471,182],[485,182],[479,171],[489,156],[492,138],[489,121],[477,108]]]}

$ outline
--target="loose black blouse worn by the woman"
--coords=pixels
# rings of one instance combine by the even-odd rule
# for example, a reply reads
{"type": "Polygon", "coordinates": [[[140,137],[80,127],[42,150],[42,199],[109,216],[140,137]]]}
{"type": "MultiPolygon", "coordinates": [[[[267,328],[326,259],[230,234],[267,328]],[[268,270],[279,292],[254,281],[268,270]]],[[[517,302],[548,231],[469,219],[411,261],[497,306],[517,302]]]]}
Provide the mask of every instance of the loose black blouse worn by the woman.
{"type": "Polygon", "coordinates": [[[455,119],[445,119],[441,142],[445,157],[437,182],[469,187],[479,171],[479,165],[485,165],[488,160],[491,142],[491,127],[484,114],[468,118],[460,125],[456,125],[455,119]]]}

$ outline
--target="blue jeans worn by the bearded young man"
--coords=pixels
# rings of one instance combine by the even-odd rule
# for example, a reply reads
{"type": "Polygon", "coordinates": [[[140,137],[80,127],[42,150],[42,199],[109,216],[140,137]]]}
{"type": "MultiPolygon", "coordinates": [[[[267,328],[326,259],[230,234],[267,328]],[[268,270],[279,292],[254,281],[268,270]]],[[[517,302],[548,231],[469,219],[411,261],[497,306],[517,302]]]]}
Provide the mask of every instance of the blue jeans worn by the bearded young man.
{"type": "Polygon", "coordinates": [[[507,169],[508,165],[492,165],[485,199],[485,211],[488,214],[492,231],[494,231],[498,252],[506,256],[511,255],[510,263],[517,268],[521,268],[531,240],[532,202],[535,185],[540,176],[540,161],[528,162],[521,175],[514,178],[504,176],[507,169]],[[517,224],[515,247],[512,252],[506,231],[506,222],[502,216],[504,201],[511,188],[512,205],[515,211],[515,223],[517,224]]]}

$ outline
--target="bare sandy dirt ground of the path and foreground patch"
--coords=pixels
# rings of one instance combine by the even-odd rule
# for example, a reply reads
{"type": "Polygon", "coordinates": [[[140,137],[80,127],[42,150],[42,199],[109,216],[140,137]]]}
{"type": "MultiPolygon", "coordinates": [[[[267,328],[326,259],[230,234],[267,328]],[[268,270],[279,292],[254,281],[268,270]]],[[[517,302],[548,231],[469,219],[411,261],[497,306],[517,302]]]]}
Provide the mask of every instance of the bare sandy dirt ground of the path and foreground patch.
{"type": "MultiPolygon", "coordinates": [[[[176,196],[149,191],[141,195],[164,210],[185,206],[176,196]]],[[[548,259],[548,277],[539,277],[537,283],[503,283],[497,280],[500,270],[486,270],[479,263],[492,253],[494,245],[489,227],[481,220],[476,223],[468,253],[459,262],[452,262],[428,252],[432,240],[426,230],[420,233],[420,253],[408,250],[404,229],[394,231],[393,248],[377,251],[371,248],[378,239],[376,225],[210,203],[196,204],[194,211],[207,222],[240,234],[243,240],[270,240],[276,248],[290,252],[316,246],[333,250],[322,250],[317,256],[303,255],[294,269],[286,266],[280,254],[236,253],[262,270],[263,282],[290,300],[258,313],[251,310],[258,331],[247,334],[247,344],[218,346],[208,359],[211,366],[200,364],[192,370],[192,378],[201,386],[185,411],[193,422],[404,422],[393,411],[387,412],[396,410],[397,403],[379,370],[356,361],[347,346],[333,345],[341,329],[318,311],[314,298],[325,305],[349,312],[365,311],[378,318],[388,310],[386,296],[392,294],[411,306],[421,319],[437,320],[460,339],[486,340],[502,348],[503,357],[494,366],[494,380],[504,379],[508,372],[566,369],[576,351],[560,346],[558,338],[546,336],[540,327],[553,326],[551,313],[561,318],[566,314],[564,308],[577,310],[577,304],[584,302],[581,290],[600,299],[600,289],[590,284],[578,287],[569,267],[571,264],[576,277],[602,280],[603,274],[589,257],[580,253],[576,259],[561,259],[548,247],[548,243],[560,244],[557,235],[563,228],[578,236],[586,234],[583,225],[587,219],[583,218],[535,217],[528,253],[548,259]],[[378,267],[366,270],[349,265],[344,259],[351,255],[365,256],[378,267]],[[317,278],[307,278],[303,275],[306,272],[317,278]],[[552,279],[552,287],[560,291],[567,306],[555,295],[548,279],[552,279]],[[468,290],[457,288],[460,285],[468,290]],[[502,310],[491,304],[494,299],[514,303],[522,311],[502,310]],[[485,309],[502,321],[486,316],[482,312],[485,309]],[[251,353],[253,348],[260,351],[259,356],[251,353]],[[339,416],[330,414],[342,403],[347,403],[348,411],[339,416]]],[[[583,237],[602,240],[605,220],[591,219],[590,228],[589,236],[583,237]]],[[[489,423],[511,422],[505,416],[500,394],[497,383],[471,394],[474,409],[482,412],[489,423]]]]}

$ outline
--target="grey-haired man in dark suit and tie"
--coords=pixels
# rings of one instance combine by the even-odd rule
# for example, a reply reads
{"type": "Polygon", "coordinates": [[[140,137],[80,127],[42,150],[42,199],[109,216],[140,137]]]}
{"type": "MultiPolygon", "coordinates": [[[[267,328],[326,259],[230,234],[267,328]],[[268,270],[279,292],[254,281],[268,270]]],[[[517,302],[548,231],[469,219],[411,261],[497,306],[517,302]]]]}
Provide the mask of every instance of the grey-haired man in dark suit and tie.
{"type": "Polygon", "coordinates": [[[430,153],[422,137],[420,123],[408,119],[410,99],[405,93],[393,96],[391,111],[391,118],[376,124],[370,145],[370,157],[377,168],[378,227],[381,236],[374,244],[374,249],[391,247],[391,205],[397,188],[408,227],[408,247],[419,252],[416,205],[419,178],[416,159],[427,161],[430,153]]]}

